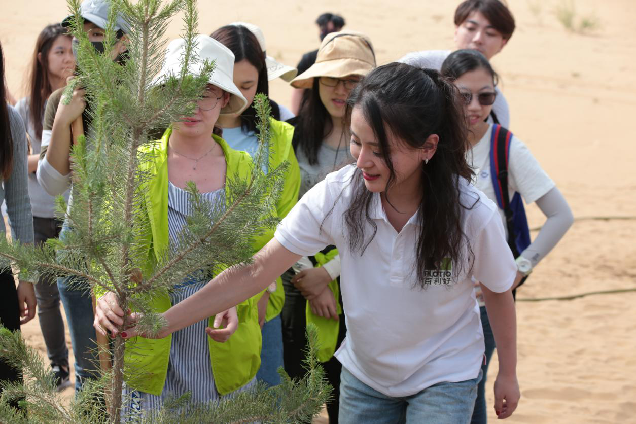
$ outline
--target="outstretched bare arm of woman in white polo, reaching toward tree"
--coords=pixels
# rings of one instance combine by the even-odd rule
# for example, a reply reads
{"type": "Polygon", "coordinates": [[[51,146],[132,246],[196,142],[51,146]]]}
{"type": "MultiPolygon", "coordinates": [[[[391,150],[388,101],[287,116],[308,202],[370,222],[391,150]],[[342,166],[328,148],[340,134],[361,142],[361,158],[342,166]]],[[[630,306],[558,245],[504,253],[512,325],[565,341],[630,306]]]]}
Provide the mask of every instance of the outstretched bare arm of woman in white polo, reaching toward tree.
{"type": "Polygon", "coordinates": [[[254,255],[254,262],[223,271],[200,291],[170,308],[164,314],[168,326],[162,333],[170,334],[254,296],[296,263],[299,257],[272,239],[254,255]]]}

